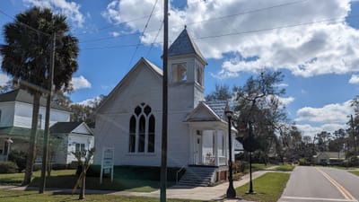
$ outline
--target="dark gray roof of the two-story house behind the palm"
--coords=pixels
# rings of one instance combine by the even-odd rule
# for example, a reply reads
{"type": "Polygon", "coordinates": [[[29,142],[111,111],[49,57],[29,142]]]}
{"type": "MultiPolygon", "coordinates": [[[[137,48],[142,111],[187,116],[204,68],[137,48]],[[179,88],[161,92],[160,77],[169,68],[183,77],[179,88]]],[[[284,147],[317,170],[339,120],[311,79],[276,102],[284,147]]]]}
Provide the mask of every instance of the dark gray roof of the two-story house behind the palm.
{"type": "MultiPolygon", "coordinates": [[[[5,92],[0,94],[0,102],[4,102],[4,101],[20,101],[20,102],[32,104],[33,97],[29,92],[26,92],[25,90],[16,89],[11,92],[5,92]]],[[[42,107],[46,107],[45,97],[40,98],[39,105],[42,107]]],[[[51,102],[51,108],[56,110],[70,111],[68,108],[58,105],[57,102],[55,101],[51,102]]]]}

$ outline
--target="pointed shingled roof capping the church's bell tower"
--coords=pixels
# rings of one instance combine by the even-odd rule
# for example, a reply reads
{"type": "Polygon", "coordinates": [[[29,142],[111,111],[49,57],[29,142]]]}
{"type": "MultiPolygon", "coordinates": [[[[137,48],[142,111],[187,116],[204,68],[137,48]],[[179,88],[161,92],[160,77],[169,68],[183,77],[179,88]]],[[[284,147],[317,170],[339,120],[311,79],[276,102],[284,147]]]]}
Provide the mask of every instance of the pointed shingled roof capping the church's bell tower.
{"type": "Polygon", "coordinates": [[[200,57],[205,63],[207,63],[206,58],[203,57],[201,51],[199,51],[196,43],[185,28],[182,32],[180,32],[180,36],[171,44],[168,55],[169,57],[173,57],[188,54],[196,54],[197,57],[200,57]]]}

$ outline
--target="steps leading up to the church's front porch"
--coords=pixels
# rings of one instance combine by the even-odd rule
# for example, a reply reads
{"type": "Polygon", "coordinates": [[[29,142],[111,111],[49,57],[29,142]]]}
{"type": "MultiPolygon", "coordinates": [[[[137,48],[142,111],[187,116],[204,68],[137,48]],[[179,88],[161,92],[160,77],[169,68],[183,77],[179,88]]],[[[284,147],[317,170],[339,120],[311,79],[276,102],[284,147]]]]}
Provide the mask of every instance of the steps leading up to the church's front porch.
{"type": "Polygon", "coordinates": [[[189,166],[178,185],[188,187],[208,187],[213,184],[215,167],[189,166]]]}

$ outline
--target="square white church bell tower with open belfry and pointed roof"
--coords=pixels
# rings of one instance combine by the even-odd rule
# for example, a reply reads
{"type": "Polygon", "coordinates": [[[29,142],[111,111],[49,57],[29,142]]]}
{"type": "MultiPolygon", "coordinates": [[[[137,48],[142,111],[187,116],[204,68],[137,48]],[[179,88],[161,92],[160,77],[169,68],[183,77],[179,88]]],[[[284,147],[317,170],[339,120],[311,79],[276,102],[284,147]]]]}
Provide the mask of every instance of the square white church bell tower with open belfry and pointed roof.
{"type": "Polygon", "coordinates": [[[171,110],[193,110],[204,101],[206,58],[185,27],[169,48],[171,110]]]}

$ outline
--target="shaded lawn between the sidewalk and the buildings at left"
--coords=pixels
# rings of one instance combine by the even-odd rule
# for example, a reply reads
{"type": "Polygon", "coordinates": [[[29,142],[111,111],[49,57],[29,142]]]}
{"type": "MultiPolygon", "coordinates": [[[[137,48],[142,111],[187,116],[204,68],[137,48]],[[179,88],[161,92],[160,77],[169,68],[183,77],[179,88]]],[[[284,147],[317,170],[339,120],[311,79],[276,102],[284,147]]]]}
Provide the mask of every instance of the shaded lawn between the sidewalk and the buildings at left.
{"type": "MultiPolygon", "coordinates": [[[[47,181],[48,188],[73,189],[77,180],[75,170],[52,171],[51,178],[47,181]]],[[[24,173],[0,174],[1,185],[20,185],[24,173]]],[[[31,187],[38,187],[40,183],[40,171],[35,171],[31,180],[31,187]]],[[[171,182],[168,183],[171,186],[171,182]]],[[[160,188],[160,182],[154,180],[127,180],[115,175],[113,182],[104,179],[100,184],[99,178],[87,177],[86,189],[107,189],[150,192],[160,188]]]]}

